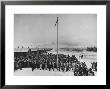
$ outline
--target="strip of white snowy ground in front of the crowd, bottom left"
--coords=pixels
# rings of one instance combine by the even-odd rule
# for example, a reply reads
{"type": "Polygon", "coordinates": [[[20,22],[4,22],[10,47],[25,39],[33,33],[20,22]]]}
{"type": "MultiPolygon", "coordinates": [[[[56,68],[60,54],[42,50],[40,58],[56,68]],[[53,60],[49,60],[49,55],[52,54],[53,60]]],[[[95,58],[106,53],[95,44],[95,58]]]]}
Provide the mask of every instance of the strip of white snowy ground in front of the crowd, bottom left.
{"type": "Polygon", "coordinates": [[[22,68],[22,70],[16,70],[14,72],[15,76],[74,76],[72,71],[69,72],[59,72],[59,71],[49,71],[49,70],[37,70],[32,71],[31,68],[22,68]]]}

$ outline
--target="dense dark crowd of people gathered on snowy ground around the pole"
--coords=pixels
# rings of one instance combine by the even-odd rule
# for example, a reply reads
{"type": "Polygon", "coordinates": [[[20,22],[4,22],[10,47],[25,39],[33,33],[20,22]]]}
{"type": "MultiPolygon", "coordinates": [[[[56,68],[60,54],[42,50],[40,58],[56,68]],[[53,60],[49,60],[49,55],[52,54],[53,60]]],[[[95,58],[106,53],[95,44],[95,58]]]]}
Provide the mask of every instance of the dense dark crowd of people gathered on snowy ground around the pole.
{"type": "Polygon", "coordinates": [[[15,52],[14,53],[14,71],[22,68],[32,68],[38,70],[72,71],[74,76],[94,76],[97,71],[97,62],[91,63],[92,67],[87,68],[85,62],[80,62],[75,55],[52,54],[44,51],[15,52]]]}

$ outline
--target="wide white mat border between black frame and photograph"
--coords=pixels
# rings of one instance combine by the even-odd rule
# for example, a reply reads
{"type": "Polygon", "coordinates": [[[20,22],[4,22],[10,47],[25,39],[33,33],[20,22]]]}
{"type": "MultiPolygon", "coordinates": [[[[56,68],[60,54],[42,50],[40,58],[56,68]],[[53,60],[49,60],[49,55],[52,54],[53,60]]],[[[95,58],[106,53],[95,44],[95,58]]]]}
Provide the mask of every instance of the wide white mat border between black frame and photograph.
{"type": "Polygon", "coordinates": [[[105,5],[6,5],[6,85],[106,85],[105,5]],[[14,14],[97,14],[97,76],[14,76],[14,14]]]}

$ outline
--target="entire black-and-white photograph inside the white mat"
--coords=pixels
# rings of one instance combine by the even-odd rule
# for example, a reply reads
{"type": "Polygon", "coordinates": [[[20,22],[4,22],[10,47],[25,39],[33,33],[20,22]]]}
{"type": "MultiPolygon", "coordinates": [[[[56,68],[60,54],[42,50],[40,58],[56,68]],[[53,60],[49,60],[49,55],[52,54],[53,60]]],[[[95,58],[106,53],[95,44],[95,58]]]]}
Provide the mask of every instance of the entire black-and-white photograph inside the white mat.
{"type": "Polygon", "coordinates": [[[97,76],[97,14],[14,14],[14,76],[97,76]]]}

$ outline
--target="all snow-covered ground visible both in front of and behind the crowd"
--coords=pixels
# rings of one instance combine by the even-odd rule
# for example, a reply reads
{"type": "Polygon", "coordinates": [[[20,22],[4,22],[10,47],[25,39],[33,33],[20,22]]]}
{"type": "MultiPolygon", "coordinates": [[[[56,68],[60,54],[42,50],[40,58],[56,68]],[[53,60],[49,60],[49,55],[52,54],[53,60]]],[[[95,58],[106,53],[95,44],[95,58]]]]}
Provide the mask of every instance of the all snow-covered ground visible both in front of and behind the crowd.
{"type": "MultiPolygon", "coordinates": [[[[56,54],[56,52],[49,52],[49,53],[53,53],[56,54]]],[[[64,51],[60,51],[60,54],[65,54],[65,55],[75,55],[76,58],[78,58],[78,60],[80,62],[85,62],[87,67],[90,68],[91,67],[91,63],[92,62],[97,62],[97,53],[96,52],[64,52],[64,51]],[[79,55],[83,54],[84,57],[81,59],[79,58],[79,55]]],[[[31,68],[23,68],[22,70],[16,70],[14,72],[15,76],[74,76],[74,73],[72,71],[70,72],[59,72],[59,71],[49,71],[49,70],[37,70],[35,69],[34,71],[32,71],[31,68]]],[[[97,72],[95,72],[95,75],[97,75],[97,72]]]]}

